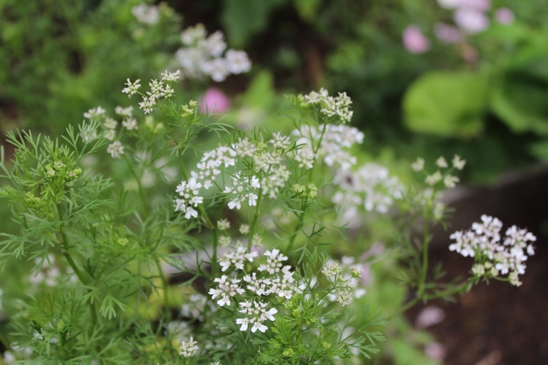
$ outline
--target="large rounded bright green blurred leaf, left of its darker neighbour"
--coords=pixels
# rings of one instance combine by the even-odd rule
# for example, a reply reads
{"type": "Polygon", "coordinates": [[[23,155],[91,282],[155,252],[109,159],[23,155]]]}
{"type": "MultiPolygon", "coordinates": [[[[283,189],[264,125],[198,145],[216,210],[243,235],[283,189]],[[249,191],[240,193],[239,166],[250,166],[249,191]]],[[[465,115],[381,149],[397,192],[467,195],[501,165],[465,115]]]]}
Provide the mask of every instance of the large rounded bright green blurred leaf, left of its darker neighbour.
{"type": "Polygon", "coordinates": [[[488,80],[481,73],[427,73],[403,98],[406,126],[414,132],[473,137],[483,129],[487,95],[488,80]]]}

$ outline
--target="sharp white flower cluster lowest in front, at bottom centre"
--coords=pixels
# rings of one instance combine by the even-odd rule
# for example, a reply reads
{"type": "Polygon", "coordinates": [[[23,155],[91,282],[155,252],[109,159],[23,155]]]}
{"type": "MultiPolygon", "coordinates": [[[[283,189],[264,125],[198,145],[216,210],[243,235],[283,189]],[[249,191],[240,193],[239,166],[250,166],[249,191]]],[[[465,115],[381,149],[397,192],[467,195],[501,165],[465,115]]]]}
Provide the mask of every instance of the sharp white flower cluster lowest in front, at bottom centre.
{"type": "Polygon", "coordinates": [[[272,294],[290,299],[300,290],[293,278],[291,266],[283,264],[283,261],[286,261],[288,257],[276,249],[264,252],[263,257],[266,258],[266,261],[258,266],[257,271],[245,274],[243,266],[245,261],[253,262],[257,256],[257,252],[247,252],[242,247],[225,253],[219,259],[221,270],[223,272],[231,268],[234,270],[230,278],[223,275],[221,278],[214,279],[214,282],[217,283],[216,287],[212,287],[209,291],[212,299],[220,297],[216,303],[221,307],[231,305],[231,299],[235,296],[242,296],[246,293],[256,296],[256,298],[248,296],[245,301],[239,303],[241,309],[238,311],[247,315],[245,318],[236,319],[236,324],[241,325],[241,331],[247,331],[248,325],[251,324],[251,332],[257,330],[264,332],[268,327],[263,322],[267,319],[274,320],[273,315],[277,313],[277,309],[274,307],[267,309],[268,303],[260,301],[258,298],[272,294]],[[242,281],[247,283],[245,288],[242,287],[242,281]]]}

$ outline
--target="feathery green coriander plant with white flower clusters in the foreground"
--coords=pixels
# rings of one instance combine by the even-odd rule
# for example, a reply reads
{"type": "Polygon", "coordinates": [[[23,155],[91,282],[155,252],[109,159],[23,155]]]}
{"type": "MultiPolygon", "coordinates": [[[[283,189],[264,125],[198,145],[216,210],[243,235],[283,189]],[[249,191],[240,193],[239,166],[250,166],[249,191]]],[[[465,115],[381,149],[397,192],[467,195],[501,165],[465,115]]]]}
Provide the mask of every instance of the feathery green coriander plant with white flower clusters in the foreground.
{"type": "Polygon", "coordinates": [[[475,257],[471,279],[429,275],[429,230],[443,221],[438,194],[458,182],[458,156],[406,187],[382,165],[358,166],[363,134],[347,125],[345,93],[288,97],[290,133],[232,130],[197,102],[174,101],[179,75],[166,71],[147,91],[128,79],[123,93],[141,97],[139,113],[98,106],[61,139],[8,133],[0,195],[18,233],[2,234],[0,262],[28,272],[13,300],[2,297],[5,361],[362,362],[384,340],[386,316],[367,305],[364,266],[333,247],[364,215],[401,224],[393,245],[415,289],[401,310],[481,278],[510,272],[519,283],[534,236],[512,227],[500,244],[488,218],[451,236],[451,250],[475,257]]]}

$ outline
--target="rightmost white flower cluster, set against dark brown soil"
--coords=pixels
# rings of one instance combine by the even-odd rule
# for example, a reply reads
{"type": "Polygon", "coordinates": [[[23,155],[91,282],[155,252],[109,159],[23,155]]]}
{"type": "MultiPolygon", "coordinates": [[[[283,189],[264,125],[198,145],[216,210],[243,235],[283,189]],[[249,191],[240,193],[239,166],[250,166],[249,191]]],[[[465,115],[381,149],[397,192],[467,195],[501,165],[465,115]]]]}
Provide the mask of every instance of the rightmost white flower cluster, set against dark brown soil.
{"type": "Polygon", "coordinates": [[[512,285],[521,285],[518,275],[525,273],[527,255],[535,253],[532,242],[536,237],[525,229],[511,226],[502,238],[502,222],[498,218],[485,214],[481,218],[482,222],[473,223],[471,230],[450,235],[456,242],[449,245],[449,250],[473,257],[472,272],[476,277],[508,274],[512,285]]]}

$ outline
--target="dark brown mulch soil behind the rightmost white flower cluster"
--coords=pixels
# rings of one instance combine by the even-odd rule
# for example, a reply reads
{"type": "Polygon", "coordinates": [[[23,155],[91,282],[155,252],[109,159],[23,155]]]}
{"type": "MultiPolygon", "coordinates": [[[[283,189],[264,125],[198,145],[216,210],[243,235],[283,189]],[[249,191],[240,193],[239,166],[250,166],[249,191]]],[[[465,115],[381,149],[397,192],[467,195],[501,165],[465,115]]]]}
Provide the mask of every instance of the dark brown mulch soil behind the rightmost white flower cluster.
{"type": "MultiPolygon", "coordinates": [[[[445,311],[445,320],[429,327],[445,346],[445,364],[548,364],[547,182],[546,170],[540,169],[456,203],[458,215],[451,232],[469,228],[471,222],[479,222],[479,215],[488,213],[502,220],[503,230],[516,224],[528,228],[538,240],[536,255],[530,257],[525,275],[520,276],[521,287],[491,281],[473,287],[456,303],[428,303],[445,311]]],[[[466,276],[473,260],[449,252],[448,244],[436,242],[433,261],[443,262],[449,278],[466,276]]],[[[410,310],[410,320],[420,310],[410,310]]]]}

